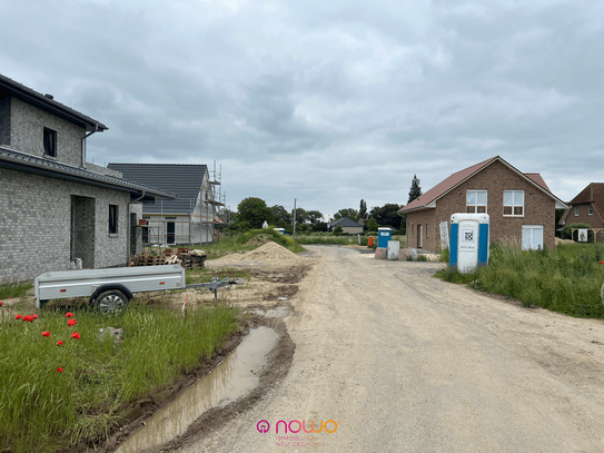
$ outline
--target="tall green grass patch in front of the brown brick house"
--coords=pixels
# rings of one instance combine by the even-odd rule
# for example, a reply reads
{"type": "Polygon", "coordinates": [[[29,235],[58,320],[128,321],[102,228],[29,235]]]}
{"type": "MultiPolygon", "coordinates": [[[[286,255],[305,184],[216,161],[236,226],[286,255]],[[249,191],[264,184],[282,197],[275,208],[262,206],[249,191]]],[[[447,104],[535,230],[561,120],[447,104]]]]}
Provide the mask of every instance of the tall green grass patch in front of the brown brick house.
{"type": "Polygon", "coordinates": [[[604,260],[602,244],[568,244],[531,252],[493,246],[487,266],[472,274],[447,268],[437,276],[518,298],[526,306],[538,305],[577,317],[604,317],[601,260],[604,260]]]}

